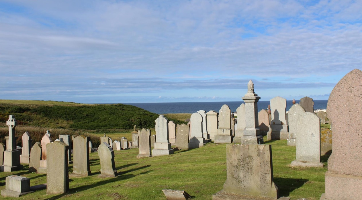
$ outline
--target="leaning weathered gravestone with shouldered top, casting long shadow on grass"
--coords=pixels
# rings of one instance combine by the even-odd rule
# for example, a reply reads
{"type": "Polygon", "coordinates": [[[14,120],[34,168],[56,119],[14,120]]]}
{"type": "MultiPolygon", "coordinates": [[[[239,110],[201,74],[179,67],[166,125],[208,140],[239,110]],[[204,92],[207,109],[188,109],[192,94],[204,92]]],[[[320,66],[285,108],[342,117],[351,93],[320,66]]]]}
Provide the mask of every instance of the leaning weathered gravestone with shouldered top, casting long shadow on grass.
{"type": "Polygon", "coordinates": [[[98,147],[98,156],[101,163],[100,178],[116,177],[117,170],[114,164],[114,151],[107,143],[101,143],[98,147]]]}

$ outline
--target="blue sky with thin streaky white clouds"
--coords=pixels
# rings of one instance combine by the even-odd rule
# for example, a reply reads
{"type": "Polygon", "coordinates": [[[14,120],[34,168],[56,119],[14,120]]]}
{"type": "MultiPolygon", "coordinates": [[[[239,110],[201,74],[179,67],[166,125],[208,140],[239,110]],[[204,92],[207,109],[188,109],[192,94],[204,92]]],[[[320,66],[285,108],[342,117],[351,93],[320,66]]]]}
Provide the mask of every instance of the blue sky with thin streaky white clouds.
{"type": "Polygon", "coordinates": [[[362,1],[0,0],[0,99],[328,99],[362,69],[362,1]]]}

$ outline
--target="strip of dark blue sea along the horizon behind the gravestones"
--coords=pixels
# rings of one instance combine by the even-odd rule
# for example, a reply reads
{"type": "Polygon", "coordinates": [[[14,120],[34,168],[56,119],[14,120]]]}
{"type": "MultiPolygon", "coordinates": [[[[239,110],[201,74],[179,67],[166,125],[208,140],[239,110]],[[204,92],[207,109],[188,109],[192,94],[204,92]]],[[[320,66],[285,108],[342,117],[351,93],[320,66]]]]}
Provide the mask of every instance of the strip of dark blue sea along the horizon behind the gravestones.
{"type": "MultiPolygon", "coordinates": [[[[327,109],[328,100],[313,100],[314,110],[327,109]]],[[[299,100],[295,100],[299,103],[299,100]]],[[[219,101],[219,102],[177,102],[177,103],[123,103],[127,105],[134,105],[136,107],[148,110],[152,113],[167,114],[167,113],[195,113],[198,110],[205,110],[209,112],[214,110],[219,112],[222,105],[226,104],[231,109],[231,112],[236,112],[236,109],[244,101],[219,101]]],[[[259,101],[258,112],[262,109],[268,108],[270,101],[259,101]]],[[[292,100],[287,100],[286,110],[293,105],[292,100]]]]}

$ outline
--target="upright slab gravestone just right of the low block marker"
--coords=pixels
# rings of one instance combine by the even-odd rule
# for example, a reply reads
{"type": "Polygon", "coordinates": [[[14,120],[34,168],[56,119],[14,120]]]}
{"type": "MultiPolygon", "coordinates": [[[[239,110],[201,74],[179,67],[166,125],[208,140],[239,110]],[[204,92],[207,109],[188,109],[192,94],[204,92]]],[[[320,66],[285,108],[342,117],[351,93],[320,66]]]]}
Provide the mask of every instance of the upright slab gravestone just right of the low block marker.
{"type": "Polygon", "coordinates": [[[46,174],[47,195],[64,194],[69,191],[68,148],[68,145],[60,141],[46,144],[48,154],[46,174]]]}

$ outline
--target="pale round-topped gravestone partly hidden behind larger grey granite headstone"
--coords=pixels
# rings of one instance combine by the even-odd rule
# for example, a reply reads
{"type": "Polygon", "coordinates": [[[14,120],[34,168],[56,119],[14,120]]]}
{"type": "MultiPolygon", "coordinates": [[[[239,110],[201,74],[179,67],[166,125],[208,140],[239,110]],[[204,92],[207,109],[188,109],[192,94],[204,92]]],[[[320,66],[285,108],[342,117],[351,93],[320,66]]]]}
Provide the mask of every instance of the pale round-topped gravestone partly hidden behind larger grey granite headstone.
{"type": "Polygon", "coordinates": [[[296,133],[299,131],[298,123],[300,117],[302,117],[305,112],[304,108],[299,104],[294,104],[290,107],[288,112],[289,139],[287,139],[287,146],[296,146],[296,133]]]}

